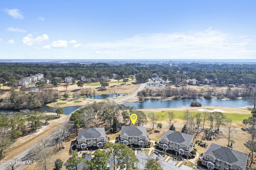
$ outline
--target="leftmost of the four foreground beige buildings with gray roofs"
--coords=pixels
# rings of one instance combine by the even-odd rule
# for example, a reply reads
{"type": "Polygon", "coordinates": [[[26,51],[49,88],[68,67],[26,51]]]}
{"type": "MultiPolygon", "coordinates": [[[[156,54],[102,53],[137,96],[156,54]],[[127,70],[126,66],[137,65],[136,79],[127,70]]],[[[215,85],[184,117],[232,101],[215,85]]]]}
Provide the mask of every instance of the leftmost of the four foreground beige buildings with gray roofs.
{"type": "Polygon", "coordinates": [[[76,148],[85,150],[90,146],[102,148],[108,142],[105,128],[84,128],[80,129],[76,139],[76,148]]]}

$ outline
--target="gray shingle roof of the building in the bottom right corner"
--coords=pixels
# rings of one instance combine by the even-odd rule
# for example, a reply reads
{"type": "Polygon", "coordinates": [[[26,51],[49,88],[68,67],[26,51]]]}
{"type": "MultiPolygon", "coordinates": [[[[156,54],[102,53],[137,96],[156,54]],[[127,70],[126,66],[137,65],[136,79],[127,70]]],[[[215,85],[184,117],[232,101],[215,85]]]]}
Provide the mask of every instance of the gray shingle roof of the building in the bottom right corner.
{"type": "Polygon", "coordinates": [[[238,165],[245,170],[248,154],[225,146],[211,143],[204,155],[210,155],[214,159],[222,160],[231,165],[238,165]]]}

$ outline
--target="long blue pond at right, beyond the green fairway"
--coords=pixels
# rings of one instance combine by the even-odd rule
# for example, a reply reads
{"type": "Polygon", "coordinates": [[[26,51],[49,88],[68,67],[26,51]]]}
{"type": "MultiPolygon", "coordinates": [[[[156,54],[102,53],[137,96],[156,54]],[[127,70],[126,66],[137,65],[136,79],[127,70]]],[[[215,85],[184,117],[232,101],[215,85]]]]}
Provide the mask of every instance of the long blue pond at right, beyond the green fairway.
{"type": "Polygon", "coordinates": [[[247,98],[242,99],[178,99],[178,100],[156,100],[149,99],[145,100],[143,103],[125,103],[125,106],[134,106],[136,109],[153,109],[153,108],[179,108],[179,107],[190,107],[192,101],[196,101],[202,104],[202,106],[220,106],[220,107],[247,107],[247,98]]]}

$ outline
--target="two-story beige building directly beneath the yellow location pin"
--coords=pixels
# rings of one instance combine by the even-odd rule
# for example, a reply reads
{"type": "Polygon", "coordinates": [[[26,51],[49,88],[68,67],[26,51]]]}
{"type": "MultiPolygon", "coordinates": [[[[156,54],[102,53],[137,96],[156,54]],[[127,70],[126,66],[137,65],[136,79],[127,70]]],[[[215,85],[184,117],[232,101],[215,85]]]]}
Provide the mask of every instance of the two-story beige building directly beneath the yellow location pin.
{"type": "Polygon", "coordinates": [[[120,144],[137,144],[141,147],[149,142],[146,127],[124,126],[121,129],[118,142],[120,144]]]}

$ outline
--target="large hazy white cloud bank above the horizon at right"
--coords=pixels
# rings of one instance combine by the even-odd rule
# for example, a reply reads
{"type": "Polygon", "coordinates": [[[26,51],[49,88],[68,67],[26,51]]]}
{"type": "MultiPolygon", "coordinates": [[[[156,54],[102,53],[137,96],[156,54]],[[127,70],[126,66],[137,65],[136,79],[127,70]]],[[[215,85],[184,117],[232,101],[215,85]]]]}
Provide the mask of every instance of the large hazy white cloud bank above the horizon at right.
{"type": "Polygon", "coordinates": [[[248,36],[233,36],[210,27],[197,32],[140,34],[112,42],[87,43],[83,47],[95,56],[104,54],[109,58],[253,59],[255,42],[248,36]]]}

